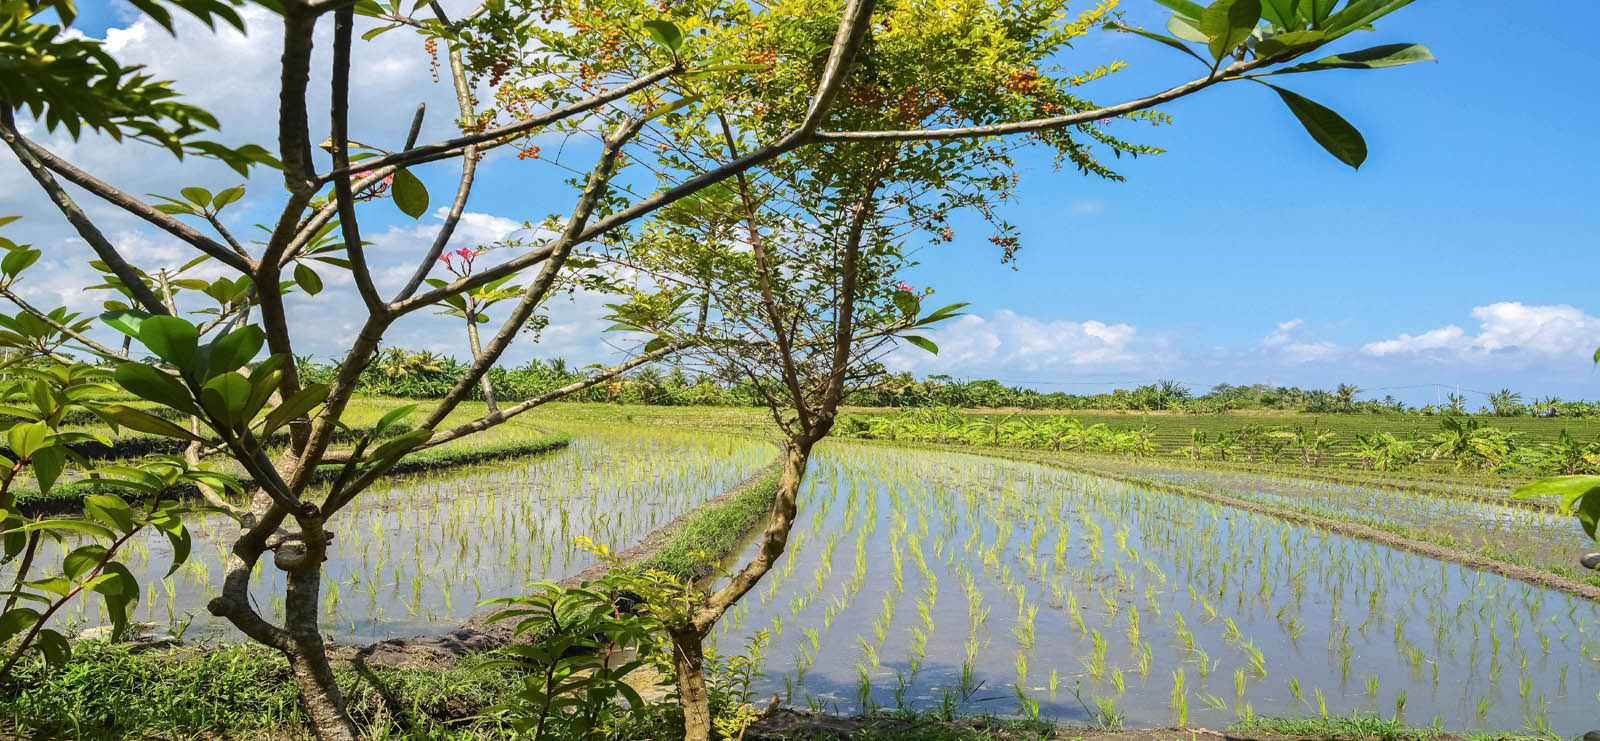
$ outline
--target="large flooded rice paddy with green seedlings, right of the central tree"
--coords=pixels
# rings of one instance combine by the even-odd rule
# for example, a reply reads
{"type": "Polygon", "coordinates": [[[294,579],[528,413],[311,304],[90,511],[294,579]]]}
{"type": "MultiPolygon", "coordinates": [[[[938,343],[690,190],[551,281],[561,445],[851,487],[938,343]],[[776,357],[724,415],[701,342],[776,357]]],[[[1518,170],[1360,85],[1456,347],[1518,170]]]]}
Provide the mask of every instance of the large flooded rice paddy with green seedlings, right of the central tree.
{"type": "Polygon", "coordinates": [[[1211,728],[1354,711],[1568,736],[1600,717],[1594,603],[1379,544],[1054,467],[842,445],[800,512],[718,634],[733,650],[765,631],[760,690],[795,706],[1211,728]]]}

